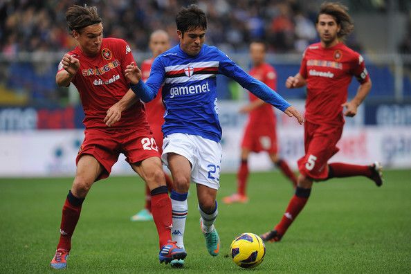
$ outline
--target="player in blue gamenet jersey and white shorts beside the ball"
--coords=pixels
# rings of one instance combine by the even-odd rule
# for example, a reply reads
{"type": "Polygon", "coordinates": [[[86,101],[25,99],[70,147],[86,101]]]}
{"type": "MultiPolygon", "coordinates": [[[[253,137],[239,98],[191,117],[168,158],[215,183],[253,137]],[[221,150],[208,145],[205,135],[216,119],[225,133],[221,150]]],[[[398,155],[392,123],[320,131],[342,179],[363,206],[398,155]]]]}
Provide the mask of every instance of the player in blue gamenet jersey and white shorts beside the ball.
{"type": "MultiPolygon", "coordinates": [[[[144,102],[156,97],[163,85],[165,123],[163,162],[174,180],[171,193],[172,238],[184,248],[183,235],[190,182],[196,183],[200,226],[206,237],[208,253],[219,254],[217,190],[221,166],[221,127],[217,107],[217,73],[239,82],[258,98],[294,116],[300,124],[301,114],[266,84],[256,80],[214,46],[204,44],[207,19],[196,5],[182,8],[176,16],[180,43],[154,60],[147,82],[140,81],[141,71],[131,63],[125,75],[131,89],[144,102]]],[[[183,266],[182,260],[172,266],[183,266]]]]}

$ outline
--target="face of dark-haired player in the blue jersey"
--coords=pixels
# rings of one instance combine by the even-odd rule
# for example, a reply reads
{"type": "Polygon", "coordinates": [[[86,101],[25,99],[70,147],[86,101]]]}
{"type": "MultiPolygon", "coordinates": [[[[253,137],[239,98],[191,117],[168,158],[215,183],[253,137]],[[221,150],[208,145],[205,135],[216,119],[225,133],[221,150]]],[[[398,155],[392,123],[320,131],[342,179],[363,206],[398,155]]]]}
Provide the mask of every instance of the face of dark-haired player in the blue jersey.
{"type": "Polygon", "coordinates": [[[206,39],[206,30],[196,28],[186,31],[184,35],[180,30],[177,30],[177,34],[179,35],[182,51],[192,56],[199,54],[206,39]]]}

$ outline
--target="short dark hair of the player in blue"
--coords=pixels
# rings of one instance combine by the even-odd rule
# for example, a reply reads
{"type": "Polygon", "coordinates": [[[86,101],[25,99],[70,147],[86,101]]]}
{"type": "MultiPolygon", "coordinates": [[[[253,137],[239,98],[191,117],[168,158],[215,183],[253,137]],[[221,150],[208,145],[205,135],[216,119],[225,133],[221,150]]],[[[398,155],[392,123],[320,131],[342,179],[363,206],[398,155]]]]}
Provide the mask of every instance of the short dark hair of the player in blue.
{"type": "Polygon", "coordinates": [[[190,5],[185,8],[181,8],[176,16],[176,26],[177,30],[184,33],[188,30],[194,30],[196,28],[201,28],[203,30],[207,29],[207,17],[206,14],[197,5],[190,5]]]}

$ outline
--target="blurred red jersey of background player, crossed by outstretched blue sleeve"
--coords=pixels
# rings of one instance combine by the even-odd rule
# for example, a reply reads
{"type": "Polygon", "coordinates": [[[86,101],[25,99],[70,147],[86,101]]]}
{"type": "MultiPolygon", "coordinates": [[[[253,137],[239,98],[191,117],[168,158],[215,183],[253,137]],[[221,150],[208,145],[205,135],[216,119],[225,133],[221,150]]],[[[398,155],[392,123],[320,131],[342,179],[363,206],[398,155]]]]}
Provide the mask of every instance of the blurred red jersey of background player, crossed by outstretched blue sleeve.
{"type": "MultiPolygon", "coordinates": [[[[250,69],[249,74],[255,79],[263,82],[275,91],[277,89],[277,72],[270,64],[260,64],[250,69]]],[[[257,100],[257,96],[248,92],[250,102],[257,100]]],[[[263,127],[275,127],[275,113],[271,104],[264,103],[262,106],[253,109],[249,114],[249,122],[253,125],[262,125],[263,127]]]]}

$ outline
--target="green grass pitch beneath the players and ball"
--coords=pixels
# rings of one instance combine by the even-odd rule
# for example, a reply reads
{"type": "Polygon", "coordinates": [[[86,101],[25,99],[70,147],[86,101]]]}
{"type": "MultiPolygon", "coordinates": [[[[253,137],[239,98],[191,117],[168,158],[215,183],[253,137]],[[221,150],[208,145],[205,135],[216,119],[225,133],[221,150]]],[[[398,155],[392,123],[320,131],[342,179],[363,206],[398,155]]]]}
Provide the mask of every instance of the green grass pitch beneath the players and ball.
{"type": "MultiPolygon", "coordinates": [[[[247,204],[219,203],[217,257],[207,253],[192,185],[183,269],[158,263],[153,222],[129,221],[143,207],[142,181],[111,177],[95,183],[84,202],[65,273],[411,273],[410,178],[410,170],[392,170],[381,188],[362,177],[317,183],[282,241],[266,244],[264,262],[244,270],[226,256],[230,243],[281,218],[293,190],[280,173],[251,174],[247,204]]],[[[71,183],[0,179],[0,273],[58,272],[49,263],[71,183]]],[[[235,175],[222,174],[218,201],[234,191],[235,175]]]]}

